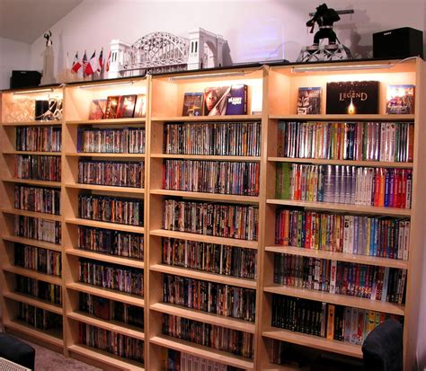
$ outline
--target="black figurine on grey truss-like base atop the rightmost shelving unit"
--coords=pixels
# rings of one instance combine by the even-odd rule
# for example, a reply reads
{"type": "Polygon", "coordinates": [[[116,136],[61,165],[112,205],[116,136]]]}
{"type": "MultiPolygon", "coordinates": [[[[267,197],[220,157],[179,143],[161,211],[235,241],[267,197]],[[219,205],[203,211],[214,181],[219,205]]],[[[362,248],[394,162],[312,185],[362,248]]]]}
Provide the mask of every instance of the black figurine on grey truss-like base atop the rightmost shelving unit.
{"type": "Polygon", "coordinates": [[[333,23],[341,19],[339,14],[327,4],[321,4],[316,8],[314,17],[306,22],[307,27],[311,27],[310,33],[314,32],[315,23],[318,23],[319,31],[314,36],[314,45],[319,45],[320,40],[328,39],[329,44],[335,44],[337,35],[333,31],[333,23]]]}

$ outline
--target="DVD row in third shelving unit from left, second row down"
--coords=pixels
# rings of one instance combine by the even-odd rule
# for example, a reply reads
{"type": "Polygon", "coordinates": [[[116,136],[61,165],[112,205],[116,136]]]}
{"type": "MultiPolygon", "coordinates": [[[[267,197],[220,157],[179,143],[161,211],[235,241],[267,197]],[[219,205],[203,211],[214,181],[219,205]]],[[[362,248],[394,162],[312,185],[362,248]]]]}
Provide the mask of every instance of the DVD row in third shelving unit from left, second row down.
{"type": "Polygon", "coordinates": [[[165,160],[163,189],[259,196],[260,163],[165,160]]]}

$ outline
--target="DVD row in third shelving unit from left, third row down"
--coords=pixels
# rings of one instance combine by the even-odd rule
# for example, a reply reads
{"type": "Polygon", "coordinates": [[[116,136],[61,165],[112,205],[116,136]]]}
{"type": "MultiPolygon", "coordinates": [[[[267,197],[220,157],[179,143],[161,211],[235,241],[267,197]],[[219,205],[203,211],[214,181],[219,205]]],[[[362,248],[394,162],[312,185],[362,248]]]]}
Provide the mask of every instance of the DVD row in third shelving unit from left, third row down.
{"type": "Polygon", "coordinates": [[[257,241],[259,208],[164,199],[163,228],[170,231],[257,241]]]}

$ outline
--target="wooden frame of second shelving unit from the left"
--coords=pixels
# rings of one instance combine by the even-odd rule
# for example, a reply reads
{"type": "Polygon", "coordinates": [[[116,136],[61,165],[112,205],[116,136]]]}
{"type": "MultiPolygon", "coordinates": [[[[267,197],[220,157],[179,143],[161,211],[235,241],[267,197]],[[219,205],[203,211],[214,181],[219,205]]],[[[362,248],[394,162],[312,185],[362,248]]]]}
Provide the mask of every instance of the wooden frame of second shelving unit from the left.
{"type": "MultiPolygon", "coordinates": [[[[65,318],[66,318],[66,351],[75,358],[80,358],[88,363],[95,363],[100,367],[111,369],[124,369],[132,367],[135,370],[143,370],[144,365],[137,361],[127,358],[120,358],[105,350],[94,349],[82,343],[81,323],[85,326],[93,326],[101,331],[112,331],[115,334],[123,335],[134,340],[145,340],[144,329],[115,321],[113,318],[105,319],[88,314],[82,311],[82,295],[97,296],[103,301],[110,303],[120,303],[123,305],[134,305],[138,308],[144,308],[145,298],[136,296],[127,292],[120,292],[102,287],[102,283],[97,286],[86,284],[80,281],[79,264],[82,260],[95,261],[101,265],[113,265],[114,267],[126,267],[130,269],[145,269],[144,259],[133,259],[111,253],[102,253],[88,250],[87,246],[80,246],[79,227],[102,228],[106,231],[119,231],[122,233],[131,233],[144,235],[145,226],[125,225],[110,222],[103,222],[91,219],[85,219],[79,215],[79,195],[92,194],[110,196],[112,198],[141,199],[145,198],[146,170],[142,174],[141,187],[118,187],[108,185],[93,185],[79,182],[78,167],[82,160],[93,161],[137,161],[144,162],[145,153],[90,153],[82,152],[79,148],[78,130],[89,128],[144,128],[146,127],[146,118],[130,119],[88,119],[90,104],[95,99],[106,100],[108,96],[127,95],[127,94],[146,94],[147,79],[128,79],[117,82],[104,82],[103,84],[75,84],[68,85],[65,88],[65,120],[64,120],[64,176],[62,181],[62,193],[64,204],[64,240],[63,249],[66,255],[64,264],[64,285],[65,285],[65,318]],[[83,248],[84,247],[84,248],[83,248]]],[[[146,166],[144,166],[146,169],[146,166]]],[[[146,206],[143,211],[144,222],[146,221],[146,206]]],[[[145,222],[146,223],[146,222],[145,222]]],[[[144,242],[145,244],[145,242],[144,242]]],[[[146,248],[146,245],[144,246],[146,248]]],[[[90,273],[88,273],[90,274],[90,273]]],[[[146,275],[144,271],[144,275],[146,275]]],[[[98,300],[98,299],[96,299],[98,300]]],[[[94,299],[93,299],[94,303],[94,299]]],[[[112,314],[110,314],[112,316],[112,314]]],[[[111,337],[110,341],[113,338],[111,337]]],[[[143,353],[146,353],[143,350],[143,353]]],[[[144,357],[146,358],[146,357],[144,357]]]]}

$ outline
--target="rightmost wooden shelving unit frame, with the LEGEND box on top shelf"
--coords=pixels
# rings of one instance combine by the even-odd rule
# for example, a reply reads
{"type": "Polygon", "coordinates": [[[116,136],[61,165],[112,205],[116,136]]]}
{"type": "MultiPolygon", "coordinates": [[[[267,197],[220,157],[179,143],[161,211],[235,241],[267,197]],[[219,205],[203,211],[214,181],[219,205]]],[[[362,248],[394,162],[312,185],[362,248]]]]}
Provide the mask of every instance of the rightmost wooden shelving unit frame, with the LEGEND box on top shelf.
{"type": "MultiPolygon", "coordinates": [[[[287,331],[271,326],[272,295],[291,296],[325,302],[333,305],[346,305],[359,309],[373,310],[386,314],[397,314],[404,316],[404,369],[412,369],[415,358],[415,343],[417,339],[416,319],[419,314],[418,293],[420,287],[416,277],[421,277],[422,271],[422,234],[424,228],[422,219],[424,210],[420,207],[423,203],[422,188],[424,179],[422,177],[421,159],[424,154],[424,140],[422,133],[423,113],[422,94],[423,85],[423,62],[421,59],[413,59],[397,64],[393,61],[385,62],[383,69],[377,69],[378,62],[315,64],[314,66],[272,66],[270,69],[270,89],[267,100],[270,102],[270,115],[268,121],[268,138],[266,147],[268,154],[266,163],[268,169],[266,190],[264,236],[262,253],[264,264],[262,267],[262,324],[261,324],[261,349],[271,352],[271,340],[281,340],[304,346],[310,349],[321,349],[328,352],[339,353],[353,358],[362,358],[359,345],[353,345],[337,340],[327,340],[305,333],[287,331]],[[333,67],[336,67],[333,70],[333,67]],[[299,68],[299,69],[298,69],[299,68]],[[340,70],[339,70],[340,69],[340,70]],[[375,115],[327,115],[325,113],[326,83],[338,81],[379,81],[379,110],[375,115]],[[413,115],[386,115],[386,87],[389,84],[414,84],[416,87],[415,114],[413,115]],[[306,117],[296,114],[297,90],[301,86],[321,86],[323,89],[321,114],[308,115],[306,117]],[[323,160],[310,158],[285,158],[277,156],[277,134],[279,121],[325,121],[325,122],[356,122],[369,121],[394,121],[414,122],[414,158],[413,163],[391,163],[391,162],[366,162],[347,160],[323,160]],[[291,199],[277,199],[275,192],[275,175],[277,163],[308,163],[308,164],[338,164],[373,166],[386,168],[405,168],[413,170],[413,204],[412,208],[379,208],[358,205],[342,205],[339,203],[324,203],[313,201],[296,201],[291,199]],[[274,241],[275,225],[272,221],[276,218],[276,212],[280,208],[301,208],[315,211],[331,211],[359,216],[402,216],[411,220],[409,260],[386,259],[382,257],[370,257],[344,252],[329,252],[299,248],[295,246],[277,245],[274,241]],[[306,256],[333,261],[346,261],[350,263],[367,264],[380,267],[397,269],[408,269],[407,291],[405,305],[397,305],[367,298],[328,294],[327,292],[309,290],[297,287],[280,286],[273,283],[273,261],[274,253],[287,253],[290,255],[306,256]]],[[[268,368],[267,362],[262,363],[268,368]]]]}

